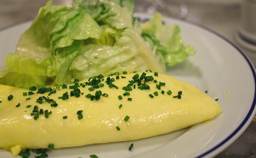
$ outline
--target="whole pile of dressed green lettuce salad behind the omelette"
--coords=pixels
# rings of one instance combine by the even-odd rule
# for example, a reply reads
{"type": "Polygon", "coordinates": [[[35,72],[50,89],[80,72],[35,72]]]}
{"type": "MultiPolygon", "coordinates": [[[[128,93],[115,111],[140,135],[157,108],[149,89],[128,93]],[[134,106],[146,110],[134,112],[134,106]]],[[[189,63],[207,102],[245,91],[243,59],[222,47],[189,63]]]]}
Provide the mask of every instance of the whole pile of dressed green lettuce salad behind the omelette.
{"type": "Polygon", "coordinates": [[[49,1],[8,54],[0,84],[28,89],[122,71],[164,73],[193,54],[161,14],[140,24],[132,0],[73,0],[70,8],[49,1]]]}

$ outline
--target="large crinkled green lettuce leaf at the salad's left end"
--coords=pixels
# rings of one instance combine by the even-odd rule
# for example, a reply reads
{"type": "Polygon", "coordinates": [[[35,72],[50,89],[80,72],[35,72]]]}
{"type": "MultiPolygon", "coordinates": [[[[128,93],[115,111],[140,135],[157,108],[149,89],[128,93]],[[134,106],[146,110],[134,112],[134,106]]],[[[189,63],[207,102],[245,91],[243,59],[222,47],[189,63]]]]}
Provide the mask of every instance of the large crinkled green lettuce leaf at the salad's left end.
{"type": "Polygon", "coordinates": [[[52,84],[70,83],[73,76],[69,65],[82,40],[100,35],[101,28],[85,11],[54,6],[49,1],[20,37],[15,55],[6,59],[0,84],[29,88],[44,86],[48,80],[52,84]]]}

